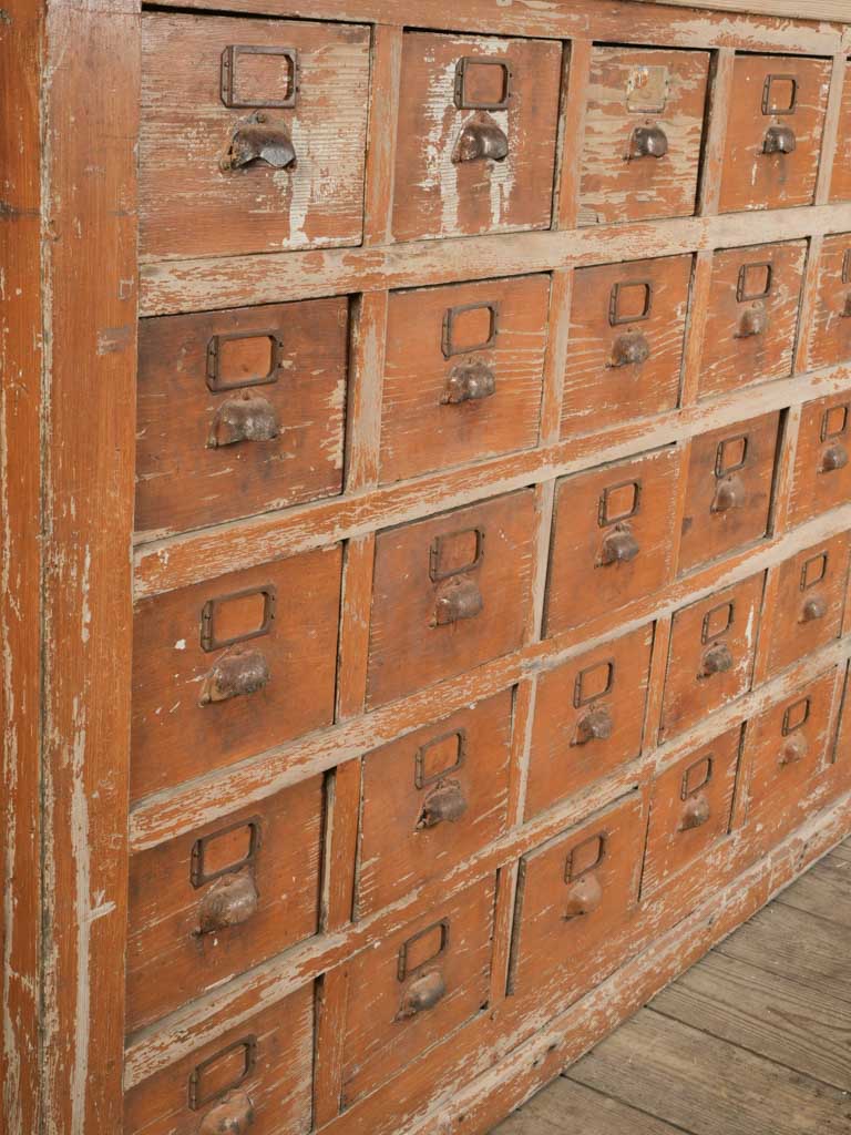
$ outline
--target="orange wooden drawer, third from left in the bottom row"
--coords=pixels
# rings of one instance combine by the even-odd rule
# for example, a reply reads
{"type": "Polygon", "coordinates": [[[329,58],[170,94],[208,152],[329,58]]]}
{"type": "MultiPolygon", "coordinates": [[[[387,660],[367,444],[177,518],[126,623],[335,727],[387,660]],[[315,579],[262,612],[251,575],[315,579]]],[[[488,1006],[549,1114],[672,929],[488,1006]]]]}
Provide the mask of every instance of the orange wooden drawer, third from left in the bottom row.
{"type": "Polygon", "coordinates": [[[647,808],[634,794],[520,860],[511,990],[534,997],[555,980],[570,1004],[615,968],[638,899],[647,808]]]}

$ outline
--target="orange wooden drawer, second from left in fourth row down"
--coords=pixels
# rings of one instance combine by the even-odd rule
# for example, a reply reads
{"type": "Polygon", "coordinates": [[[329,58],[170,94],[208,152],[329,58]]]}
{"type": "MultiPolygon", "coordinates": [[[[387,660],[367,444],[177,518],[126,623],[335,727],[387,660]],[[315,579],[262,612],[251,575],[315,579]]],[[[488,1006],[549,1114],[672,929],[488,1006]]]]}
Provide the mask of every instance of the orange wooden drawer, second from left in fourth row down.
{"type": "Polygon", "coordinates": [[[363,759],[355,911],[445,876],[505,831],[512,691],[363,759]]]}

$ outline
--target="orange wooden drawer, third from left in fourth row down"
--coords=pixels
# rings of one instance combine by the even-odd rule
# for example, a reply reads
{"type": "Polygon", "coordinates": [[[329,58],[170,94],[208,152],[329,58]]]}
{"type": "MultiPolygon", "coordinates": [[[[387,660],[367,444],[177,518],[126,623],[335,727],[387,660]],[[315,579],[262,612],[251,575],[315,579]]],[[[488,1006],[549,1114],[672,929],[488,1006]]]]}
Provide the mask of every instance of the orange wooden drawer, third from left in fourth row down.
{"type": "Polygon", "coordinates": [[[652,624],[538,679],[526,818],[641,753],[652,624]]]}

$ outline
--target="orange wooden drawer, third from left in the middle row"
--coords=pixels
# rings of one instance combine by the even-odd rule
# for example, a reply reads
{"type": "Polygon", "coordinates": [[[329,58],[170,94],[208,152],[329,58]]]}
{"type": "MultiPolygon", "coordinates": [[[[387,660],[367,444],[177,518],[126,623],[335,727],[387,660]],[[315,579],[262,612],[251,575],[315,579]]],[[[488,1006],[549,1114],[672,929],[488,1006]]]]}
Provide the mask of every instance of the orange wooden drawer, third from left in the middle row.
{"type": "Polygon", "coordinates": [[[657,449],[558,482],[546,633],[580,627],[671,578],[680,454],[657,449]]]}

